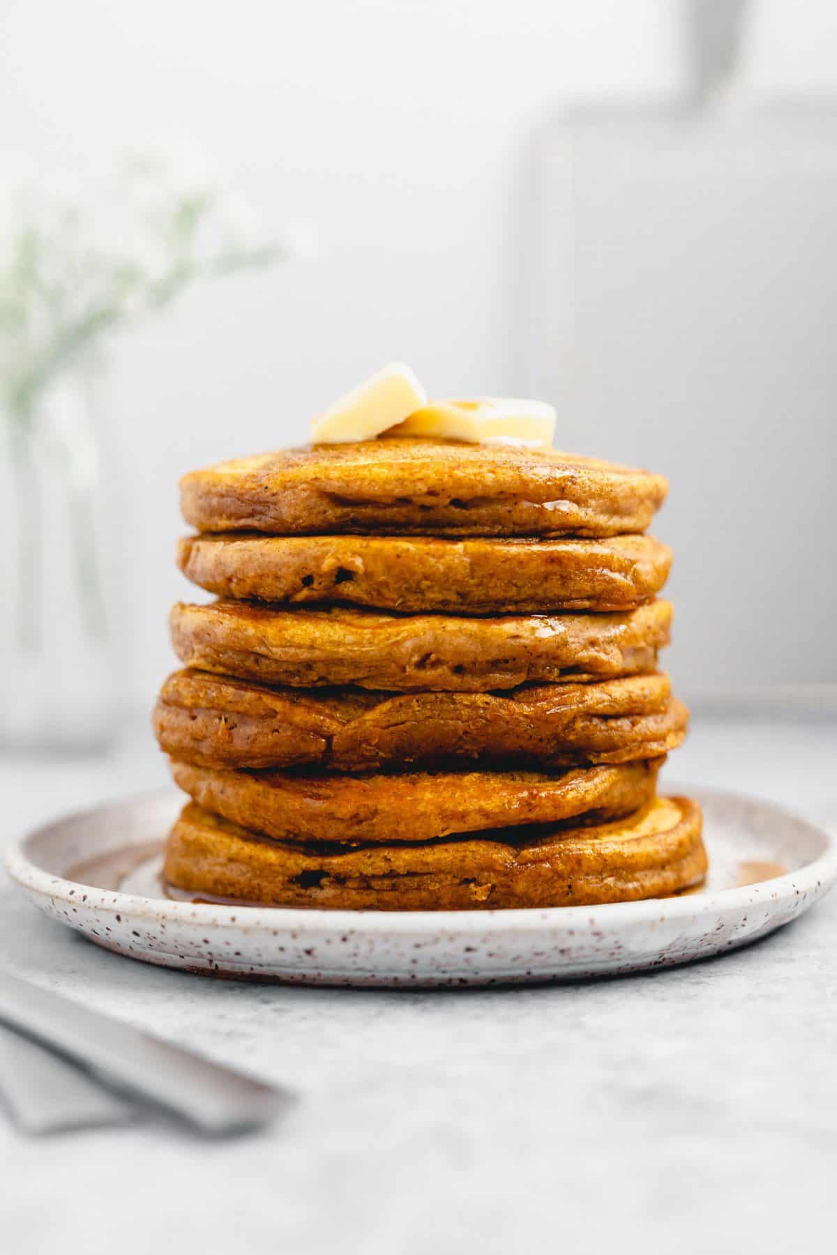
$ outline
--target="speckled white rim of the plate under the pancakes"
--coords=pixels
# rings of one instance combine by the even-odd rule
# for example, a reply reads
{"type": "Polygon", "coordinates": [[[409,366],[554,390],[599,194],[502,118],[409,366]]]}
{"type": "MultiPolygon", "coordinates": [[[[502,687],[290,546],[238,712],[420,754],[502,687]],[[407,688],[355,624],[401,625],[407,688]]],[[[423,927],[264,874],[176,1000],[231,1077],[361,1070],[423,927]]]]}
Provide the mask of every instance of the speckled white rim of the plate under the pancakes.
{"type": "Polygon", "coordinates": [[[13,842],[4,860],[6,871],[15,885],[26,892],[45,896],[51,901],[60,901],[65,905],[74,905],[78,901],[79,889],[87,894],[99,895],[99,909],[112,911],[132,912],[133,915],[158,916],[161,907],[167,915],[178,922],[202,924],[212,927],[247,929],[248,931],[261,931],[262,929],[289,929],[295,931],[317,931],[326,929],[335,931],[343,929],[349,932],[385,931],[409,932],[417,927],[423,932],[467,932],[467,931],[501,931],[503,927],[527,931],[530,929],[541,930],[545,926],[577,925],[582,919],[585,927],[601,924],[629,925],[646,924],[655,917],[660,917],[660,907],[664,907],[666,920],[703,915],[710,911],[735,911],[755,905],[764,899],[764,890],[769,886],[769,896],[776,901],[778,897],[797,894],[812,889],[827,891],[837,880],[837,832],[832,832],[804,816],[797,814],[792,809],[773,802],[770,798],[757,797],[748,793],[738,793],[734,789],[718,789],[701,784],[686,784],[673,782],[666,793],[685,789],[694,792],[698,801],[701,798],[717,798],[718,801],[734,801],[767,809],[778,818],[802,825],[812,836],[823,841],[823,850],[816,858],[802,867],[774,876],[770,880],[755,881],[750,885],[735,886],[733,889],[715,890],[710,894],[686,894],[673,897],[639,899],[631,902],[601,902],[592,906],[523,906],[523,907],[496,907],[493,910],[478,911],[369,911],[369,910],[331,910],[326,907],[305,906],[247,906],[237,904],[230,906],[216,902],[188,902],[167,897],[146,897],[139,894],[123,894],[120,890],[102,889],[95,885],[85,885],[83,881],[68,880],[39,866],[28,852],[28,847],[38,837],[45,835],[61,825],[73,821],[103,814],[108,811],[124,811],[139,804],[152,804],[174,799],[178,794],[172,787],[153,789],[128,797],[100,802],[95,806],[79,807],[53,820],[39,823],[28,830],[23,836],[13,842]],[[799,878],[803,884],[799,885],[799,878]],[[601,917],[600,912],[605,911],[601,917]],[[235,915],[231,915],[235,912],[235,915]]]}

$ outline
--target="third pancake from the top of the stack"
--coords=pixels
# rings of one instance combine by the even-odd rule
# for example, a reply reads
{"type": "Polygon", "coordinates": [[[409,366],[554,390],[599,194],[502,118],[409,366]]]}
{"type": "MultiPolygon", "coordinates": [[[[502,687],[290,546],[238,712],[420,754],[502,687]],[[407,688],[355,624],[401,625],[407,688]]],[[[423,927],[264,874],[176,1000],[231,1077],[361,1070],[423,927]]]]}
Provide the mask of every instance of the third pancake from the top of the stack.
{"type": "Polygon", "coordinates": [[[179,602],[169,619],[174,653],[202,670],[301,688],[462,693],[653,671],[670,624],[668,601],[499,619],[179,602]]]}

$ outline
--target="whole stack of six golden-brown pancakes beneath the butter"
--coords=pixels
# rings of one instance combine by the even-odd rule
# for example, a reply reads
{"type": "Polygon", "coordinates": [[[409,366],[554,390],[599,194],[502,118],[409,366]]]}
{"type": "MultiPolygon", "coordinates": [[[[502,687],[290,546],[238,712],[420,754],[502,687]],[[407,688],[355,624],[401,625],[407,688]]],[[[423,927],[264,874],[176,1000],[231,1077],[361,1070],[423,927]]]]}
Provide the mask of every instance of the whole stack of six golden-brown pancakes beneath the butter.
{"type": "Polygon", "coordinates": [[[671,894],[688,712],[656,670],[665,481],[556,451],[379,438],[184,477],[186,669],[154,729],[193,900],[433,910],[671,894]]]}

